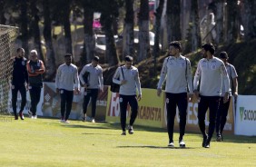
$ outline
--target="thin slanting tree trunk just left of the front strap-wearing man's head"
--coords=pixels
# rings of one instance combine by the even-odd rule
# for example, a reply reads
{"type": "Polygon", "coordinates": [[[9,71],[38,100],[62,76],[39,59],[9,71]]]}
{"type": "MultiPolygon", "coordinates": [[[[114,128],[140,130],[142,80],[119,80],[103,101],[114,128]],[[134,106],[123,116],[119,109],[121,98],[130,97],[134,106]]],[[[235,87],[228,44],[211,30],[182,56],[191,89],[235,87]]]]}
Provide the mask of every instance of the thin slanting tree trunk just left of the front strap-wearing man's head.
{"type": "Polygon", "coordinates": [[[162,9],[164,5],[164,0],[159,1],[159,5],[155,12],[155,25],[154,25],[154,45],[153,45],[153,73],[156,75],[156,58],[159,56],[159,41],[160,41],[160,27],[162,18],[162,9]]]}

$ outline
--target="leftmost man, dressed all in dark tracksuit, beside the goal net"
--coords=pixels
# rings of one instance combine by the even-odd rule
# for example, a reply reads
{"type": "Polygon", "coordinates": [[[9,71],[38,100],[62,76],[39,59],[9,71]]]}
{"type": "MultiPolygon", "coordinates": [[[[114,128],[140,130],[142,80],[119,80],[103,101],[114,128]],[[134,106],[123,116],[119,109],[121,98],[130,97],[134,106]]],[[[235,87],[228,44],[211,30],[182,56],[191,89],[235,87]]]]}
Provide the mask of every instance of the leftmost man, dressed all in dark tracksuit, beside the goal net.
{"type": "Polygon", "coordinates": [[[21,120],[24,120],[23,110],[26,103],[26,84],[28,83],[28,75],[26,70],[26,58],[24,57],[25,51],[23,48],[17,49],[17,54],[14,59],[13,65],[13,79],[12,79],[12,106],[13,112],[15,114],[15,120],[18,119],[17,115],[17,94],[20,92],[22,97],[21,107],[19,111],[19,116],[21,120]]]}

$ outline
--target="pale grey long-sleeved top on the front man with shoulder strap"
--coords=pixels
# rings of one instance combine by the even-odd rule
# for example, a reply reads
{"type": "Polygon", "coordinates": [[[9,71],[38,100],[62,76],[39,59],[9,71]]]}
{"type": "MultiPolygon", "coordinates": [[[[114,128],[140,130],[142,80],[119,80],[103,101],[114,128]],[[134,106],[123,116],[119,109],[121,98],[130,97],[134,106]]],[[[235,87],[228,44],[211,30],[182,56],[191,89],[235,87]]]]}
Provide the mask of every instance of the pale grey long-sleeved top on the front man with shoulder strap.
{"type": "Polygon", "coordinates": [[[189,92],[192,93],[192,67],[189,59],[180,55],[177,58],[168,56],[164,59],[160,80],[157,88],[162,88],[162,83],[166,79],[166,93],[187,93],[187,85],[189,92]],[[167,75],[167,77],[166,77],[167,75]]]}

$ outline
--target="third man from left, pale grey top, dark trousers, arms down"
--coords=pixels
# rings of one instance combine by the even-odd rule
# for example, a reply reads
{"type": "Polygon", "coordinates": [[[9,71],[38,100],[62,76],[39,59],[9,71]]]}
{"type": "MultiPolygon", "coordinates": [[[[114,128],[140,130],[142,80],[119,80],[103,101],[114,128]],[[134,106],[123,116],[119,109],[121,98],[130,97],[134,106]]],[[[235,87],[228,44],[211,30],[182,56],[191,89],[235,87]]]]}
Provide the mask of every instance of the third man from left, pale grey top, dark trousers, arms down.
{"type": "Polygon", "coordinates": [[[64,55],[65,64],[57,69],[55,78],[56,93],[61,95],[61,123],[69,123],[74,93],[79,93],[79,78],[77,67],[72,64],[72,54],[64,55]]]}

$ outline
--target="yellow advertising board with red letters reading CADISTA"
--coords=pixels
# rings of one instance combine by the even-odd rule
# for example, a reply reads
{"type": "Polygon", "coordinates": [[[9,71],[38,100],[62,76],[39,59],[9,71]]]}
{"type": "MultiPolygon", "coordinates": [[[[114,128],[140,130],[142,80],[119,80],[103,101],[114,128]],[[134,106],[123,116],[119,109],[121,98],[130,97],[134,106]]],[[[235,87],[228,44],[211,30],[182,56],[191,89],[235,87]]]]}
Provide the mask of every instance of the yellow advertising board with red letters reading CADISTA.
{"type": "MultiPolygon", "coordinates": [[[[143,89],[143,98],[139,101],[137,119],[134,124],[151,127],[162,127],[163,121],[163,96],[158,97],[155,89],[143,89]]],[[[130,106],[127,107],[126,115],[129,123],[130,106]]],[[[106,122],[120,123],[119,94],[109,90],[107,100],[106,122]]]]}

